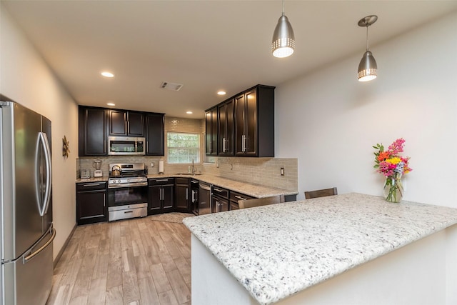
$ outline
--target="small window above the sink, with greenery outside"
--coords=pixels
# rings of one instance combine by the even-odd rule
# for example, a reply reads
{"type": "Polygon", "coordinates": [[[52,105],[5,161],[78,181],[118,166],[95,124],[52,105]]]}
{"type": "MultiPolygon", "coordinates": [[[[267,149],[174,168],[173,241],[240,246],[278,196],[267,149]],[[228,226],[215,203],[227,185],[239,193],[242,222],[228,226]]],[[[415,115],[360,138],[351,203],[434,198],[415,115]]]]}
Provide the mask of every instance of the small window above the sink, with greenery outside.
{"type": "Polygon", "coordinates": [[[166,135],[167,162],[177,163],[200,163],[200,135],[181,134],[169,132],[166,135]]]}

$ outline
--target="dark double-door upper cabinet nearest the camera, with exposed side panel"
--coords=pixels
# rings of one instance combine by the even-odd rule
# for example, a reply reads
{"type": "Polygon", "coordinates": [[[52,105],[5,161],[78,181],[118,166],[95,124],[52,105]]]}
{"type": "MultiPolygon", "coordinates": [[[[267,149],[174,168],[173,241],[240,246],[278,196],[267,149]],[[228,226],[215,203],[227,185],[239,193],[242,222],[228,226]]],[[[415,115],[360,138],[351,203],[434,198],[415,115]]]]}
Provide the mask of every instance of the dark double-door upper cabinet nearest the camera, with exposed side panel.
{"type": "Polygon", "coordinates": [[[274,87],[257,85],[233,99],[235,156],[274,156],[274,87]]]}

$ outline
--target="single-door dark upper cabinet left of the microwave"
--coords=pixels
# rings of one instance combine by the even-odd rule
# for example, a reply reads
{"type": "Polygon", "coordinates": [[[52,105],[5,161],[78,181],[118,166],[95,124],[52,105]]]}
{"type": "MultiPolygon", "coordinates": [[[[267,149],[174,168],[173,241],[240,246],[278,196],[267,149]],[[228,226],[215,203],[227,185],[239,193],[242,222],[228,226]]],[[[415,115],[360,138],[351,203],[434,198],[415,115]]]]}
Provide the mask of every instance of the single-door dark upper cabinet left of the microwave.
{"type": "Polygon", "coordinates": [[[79,106],[79,156],[106,156],[108,110],[79,106]]]}

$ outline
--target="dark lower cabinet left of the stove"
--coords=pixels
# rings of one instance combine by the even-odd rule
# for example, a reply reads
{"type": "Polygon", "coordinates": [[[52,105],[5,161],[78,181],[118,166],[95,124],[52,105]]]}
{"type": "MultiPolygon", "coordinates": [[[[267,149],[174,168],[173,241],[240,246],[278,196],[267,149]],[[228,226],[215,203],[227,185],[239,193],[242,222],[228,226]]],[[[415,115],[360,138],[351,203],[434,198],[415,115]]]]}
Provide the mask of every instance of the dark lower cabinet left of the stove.
{"type": "Polygon", "coordinates": [[[76,223],[107,221],[106,182],[76,184],[76,223]]]}

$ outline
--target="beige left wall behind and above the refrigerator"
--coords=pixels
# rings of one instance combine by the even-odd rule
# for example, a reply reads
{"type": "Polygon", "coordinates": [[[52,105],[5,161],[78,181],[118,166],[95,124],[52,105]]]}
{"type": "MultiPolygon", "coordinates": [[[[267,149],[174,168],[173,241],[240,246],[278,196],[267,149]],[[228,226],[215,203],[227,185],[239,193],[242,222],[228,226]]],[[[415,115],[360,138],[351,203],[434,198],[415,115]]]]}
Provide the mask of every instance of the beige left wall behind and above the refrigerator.
{"type": "Polygon", "coordinates": [[[54,258],[76,224],[75,160],[78,154],[77,106],[49,66],[0,3],[0,92],[51,120],[53,216],[57,235],[54,258]],[[70,156],[62,156],[62,138],[70,156]]]}

